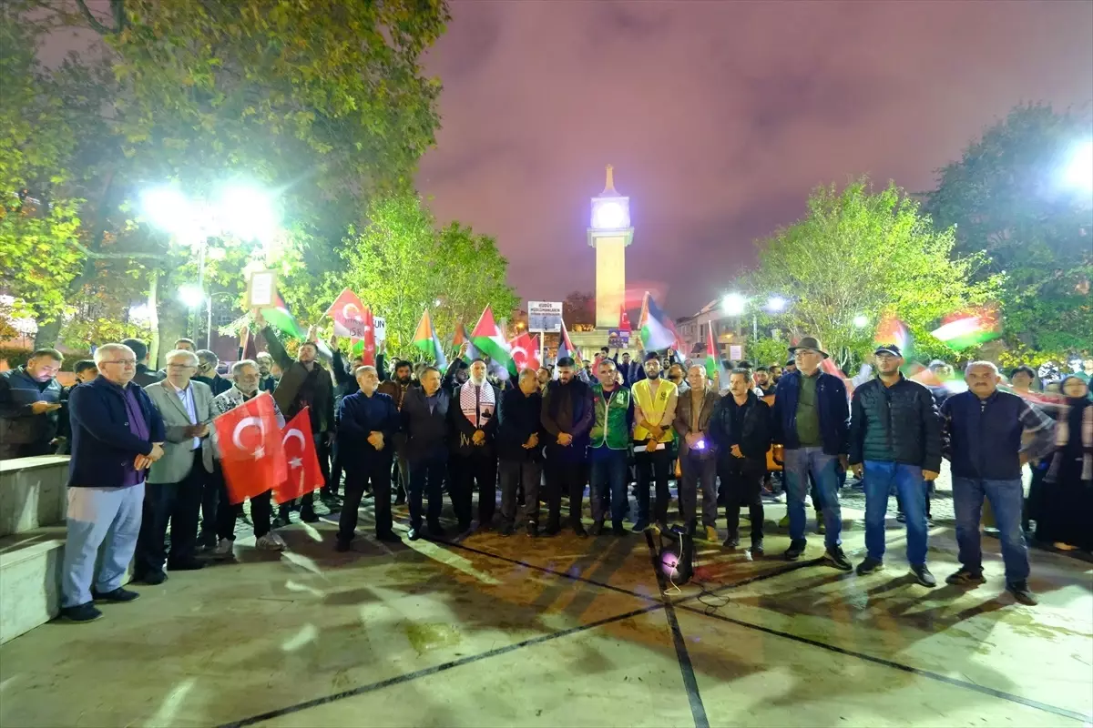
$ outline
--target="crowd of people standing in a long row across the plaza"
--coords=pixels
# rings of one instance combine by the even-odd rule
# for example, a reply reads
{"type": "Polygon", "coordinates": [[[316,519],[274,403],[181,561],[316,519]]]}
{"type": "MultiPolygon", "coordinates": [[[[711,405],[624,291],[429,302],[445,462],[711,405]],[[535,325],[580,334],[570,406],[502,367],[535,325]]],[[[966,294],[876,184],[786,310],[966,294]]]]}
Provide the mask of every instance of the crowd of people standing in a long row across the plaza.
{"type": "MultiPolygon", "coordinates": [[[[483,359],[467,361],[466,349],[443,372],[406,360],[388,371],[383,353],[376,366],[361,358],[346,362],[336,339],[328,370],[314,339],[290,356],[260,315],[258,323],[267,351],[236,361],[227,377],[218,371],[215,354],[195,350],[186,338],[175,342],[160,371],[149,367],[142,342],[127,339],[78,362],[71,387],[56,380],[62,357],[52,349],[34,351],[25,366],[0,377],[2,456],[71,456],[62,565],[69,619],[96,619],[96,601],[137,598],[121,585],[130,563],[136,582],[161,584],[168,572],[232,558],[244,505],[230,502],[211,423],[263,393],[281,427],[305,407],[309,411],[324,480],[318,498],[340,512],[339,551],[351,550],[366,498],[375,503],[378,540],[401,540],[392,498],[408,505],[407,538],[447,537],[445,492],[457,535],[496,528],[507,536],[520,528],[531,537],[553,536],[563,526],[580,537],[665,530],[674,478],[689,533],[720,540],[724,508],[724,546],[738,548],[747,508],[750,551],[759,557],[773,462],[781,465],[787,501],[785,559],[806,552],[811,490],[824,536],[822,562],[854,570],[842,548],[838,494],[851,473],[866,496],[867,554],[857,572],[884,565],[885,517],[895,492],[907,561],[916,581],[932,587],[928,491],[942,458],[952,472],[961,563],[948,583],[984,582],[985,500],[1000,532],[1007,589],[1023,604],[1036,602],[1027,585],[1030,520],[1037,539],[1093,547],[1093,407],[1080,375],[1063,379],[1065,402],[1054,403],[1031,389],[1032,370],[1019,368],[1012,391],[1001,390],[997,367],[975,361],[964,372],[966,391],[952,394],[907,379],[900,348],[884,345],[874,353],[875,377],[851,381],[821,366],[828,355],[814,337],[790,347],[785,366],[720,362],[713,378],[671,350],[632,358],[612,357],[606,347],[595,360],[563,357],[552,368],[520,371],[515,381],[491,375],[483,359]],[[1027,500],[1026,462],[1033,464],[1027,500]],[[632,487],[636,513],[627,528],[632,487]],[[202,552],[208,558],[199,558],[202,552]]],[[[281,550],[277,529],[295,510],[304,522],[319,515],[315,494],[283,503],[274,514],[272,485],[250,499],[249,517],[257,548],[281,550]]]]}

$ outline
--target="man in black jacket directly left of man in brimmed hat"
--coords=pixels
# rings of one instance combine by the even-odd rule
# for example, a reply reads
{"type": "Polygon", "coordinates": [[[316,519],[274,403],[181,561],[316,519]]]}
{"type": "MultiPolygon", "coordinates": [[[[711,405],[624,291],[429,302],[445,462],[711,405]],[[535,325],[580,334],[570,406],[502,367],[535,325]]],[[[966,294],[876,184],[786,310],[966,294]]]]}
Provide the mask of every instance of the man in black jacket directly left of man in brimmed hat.
{"type": "MultiPolygon", "coordinates": [[[[709,418],[709,440],[717,452],[717,470],[726,489],[726,548],[740,546],[740,509],[748,506],[752,554],[763,554],[763,500],[760,490],[771,449],[771,408],[752,392],[751,371],[729,372],[729,393],[709,418]]],[[[716,513],[716,501],[715,501],[716,513]]]]}

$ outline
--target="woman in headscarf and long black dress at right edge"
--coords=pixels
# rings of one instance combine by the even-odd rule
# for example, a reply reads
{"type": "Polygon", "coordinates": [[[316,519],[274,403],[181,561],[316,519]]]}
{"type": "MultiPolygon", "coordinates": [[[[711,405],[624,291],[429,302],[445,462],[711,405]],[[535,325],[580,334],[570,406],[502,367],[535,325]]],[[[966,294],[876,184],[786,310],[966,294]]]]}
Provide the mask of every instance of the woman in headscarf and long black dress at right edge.
{"type": "Polygon", "coordinates": [[[1063,550],[1093,551],[1093,401],[1074,374],[1062,380],[1067,410],[1059,417],[1055,452],[1044,477],[1036,540],[1063,550]]]}

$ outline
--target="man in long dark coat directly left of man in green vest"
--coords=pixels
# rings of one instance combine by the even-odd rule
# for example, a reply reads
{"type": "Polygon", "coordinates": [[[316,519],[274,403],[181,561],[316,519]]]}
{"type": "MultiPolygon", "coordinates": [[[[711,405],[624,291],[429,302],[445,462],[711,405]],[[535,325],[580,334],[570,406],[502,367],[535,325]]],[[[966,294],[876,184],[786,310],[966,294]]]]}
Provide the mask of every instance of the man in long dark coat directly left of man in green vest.
{"type": "Polygon", "coordinates": [[[578,536],[587,536],[580,523],[585,500],[585,456],[592,427],[592,399],[588,385],[576,377],[576,362],[557,360],[557,380],[546,385],[541,422],[546,444],[545,533],[562,529],[562,492],[569,493],[569,524],[578,536]]]}

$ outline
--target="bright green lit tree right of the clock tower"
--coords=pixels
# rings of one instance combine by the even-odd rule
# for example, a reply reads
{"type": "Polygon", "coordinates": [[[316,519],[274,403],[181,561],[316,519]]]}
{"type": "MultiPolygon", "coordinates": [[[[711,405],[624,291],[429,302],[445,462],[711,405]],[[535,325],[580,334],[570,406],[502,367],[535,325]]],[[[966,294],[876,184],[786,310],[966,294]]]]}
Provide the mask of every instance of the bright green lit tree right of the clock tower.
{"type": "Polygon", "coordinates": [[[789,299],[784,313],[764,314],[764,323],[794,338],[819,336],[841,366],[869,354],[884,312],[907,324],[921,356],[951,356],[929,332],[942,317],[997,295],[999,276],[973,281],[983,256],[952,256],[953,231],[937,230],[894,184],[877,193],[865,178],[842,191],[821,187],[808,211],[759,241],[759,265],[739,286],[763,299],[789,299]],[[858,325],[859,317],[868,324],[858,325]]]}

